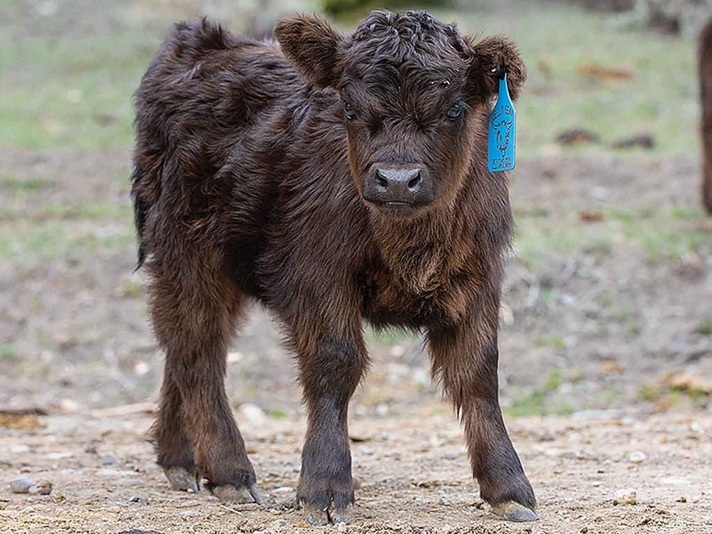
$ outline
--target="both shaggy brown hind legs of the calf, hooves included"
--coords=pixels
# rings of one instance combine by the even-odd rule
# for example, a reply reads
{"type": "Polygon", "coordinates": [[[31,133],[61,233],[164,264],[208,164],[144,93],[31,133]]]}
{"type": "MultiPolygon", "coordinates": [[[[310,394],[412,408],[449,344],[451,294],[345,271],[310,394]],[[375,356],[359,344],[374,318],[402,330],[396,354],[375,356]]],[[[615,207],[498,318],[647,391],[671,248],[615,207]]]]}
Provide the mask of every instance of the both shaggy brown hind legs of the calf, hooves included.
{"type": "Polygon", "coordinates": [[[259,501],[224,387],[227,344],[244,296],[219,269],[208,271],[206,258],[185,263],[189,258],[182,254],[180,272],[150,266],[153,324],[166,351],[154,426],[158,463],[176,488],[196,490],[202,476],[224,500],[259,501]]]}

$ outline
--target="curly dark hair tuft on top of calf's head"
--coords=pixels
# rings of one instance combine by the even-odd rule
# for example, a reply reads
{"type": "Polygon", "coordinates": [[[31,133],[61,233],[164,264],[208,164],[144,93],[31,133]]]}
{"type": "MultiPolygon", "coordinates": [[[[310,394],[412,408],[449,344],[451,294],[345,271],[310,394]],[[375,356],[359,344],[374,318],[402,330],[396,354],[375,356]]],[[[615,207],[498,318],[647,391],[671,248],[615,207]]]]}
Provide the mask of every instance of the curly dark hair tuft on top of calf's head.
{"type": "Polygon", "coordinates": [[[402,63],[426,61],[455,51],[467,59],[467,45],[453,25],[434,19],[426,11],[372,11],[352,35],[351,53],[361,58],[382,58],[402,63]]]}

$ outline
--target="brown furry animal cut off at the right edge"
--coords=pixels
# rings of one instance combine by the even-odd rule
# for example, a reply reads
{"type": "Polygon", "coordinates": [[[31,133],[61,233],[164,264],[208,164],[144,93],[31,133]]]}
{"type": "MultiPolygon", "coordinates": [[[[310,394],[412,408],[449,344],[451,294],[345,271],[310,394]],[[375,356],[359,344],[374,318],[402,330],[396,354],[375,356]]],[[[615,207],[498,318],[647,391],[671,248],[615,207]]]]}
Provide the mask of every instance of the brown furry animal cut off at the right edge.
{"type": "Polygon", "coordinates": [[[702,203],[712,213],[712,19],[700,34],[702,203]]]}

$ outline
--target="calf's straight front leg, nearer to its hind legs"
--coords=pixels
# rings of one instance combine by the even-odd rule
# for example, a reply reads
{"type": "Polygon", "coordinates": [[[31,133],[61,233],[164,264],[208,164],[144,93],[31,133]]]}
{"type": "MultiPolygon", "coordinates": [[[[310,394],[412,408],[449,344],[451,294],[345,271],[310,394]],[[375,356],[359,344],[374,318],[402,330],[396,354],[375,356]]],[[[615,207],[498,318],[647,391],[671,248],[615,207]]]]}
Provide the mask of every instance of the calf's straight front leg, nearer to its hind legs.
{"type": "Polygon", "coordinates": [[[308,426],[297,500],[313,525],[329,518],[347,523],[354,501],[347,412],[367,366],[365,348],[360,337],[333,337],[305,346],[298,356],[308,426]]]}

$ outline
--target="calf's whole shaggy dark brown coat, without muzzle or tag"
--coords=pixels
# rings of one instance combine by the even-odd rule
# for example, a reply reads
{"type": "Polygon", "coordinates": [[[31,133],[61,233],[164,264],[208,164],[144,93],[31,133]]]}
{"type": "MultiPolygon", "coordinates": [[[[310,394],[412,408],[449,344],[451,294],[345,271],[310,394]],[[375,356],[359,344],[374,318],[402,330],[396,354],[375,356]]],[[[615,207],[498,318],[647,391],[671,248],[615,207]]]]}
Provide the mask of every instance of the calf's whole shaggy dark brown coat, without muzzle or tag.
{"type": "Polygon", "coordinates": [[[364,321],[426,332],[482,497],[535,508],[498,404],[513,224],[506,174],[486,164],[498,78],[506,69],[514,98],[525,80],[513,42],[463,38],[422,11],[374,12],[352,36],[296,15],[275,35],[179,23],[137,90],[139,260],[166,351],[159,464],[179,488],[199,476],[222,495],[253,488],[223,377],[254,299],[298,357],[298,500],[312,520],[330,506],[343,518],[354,499],[347,408],[368,367],[364,321]],[[365,201],[375,162],[427,169],[434,201],[365,201]]]}

